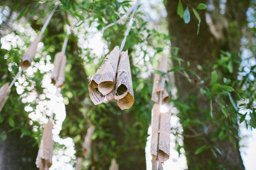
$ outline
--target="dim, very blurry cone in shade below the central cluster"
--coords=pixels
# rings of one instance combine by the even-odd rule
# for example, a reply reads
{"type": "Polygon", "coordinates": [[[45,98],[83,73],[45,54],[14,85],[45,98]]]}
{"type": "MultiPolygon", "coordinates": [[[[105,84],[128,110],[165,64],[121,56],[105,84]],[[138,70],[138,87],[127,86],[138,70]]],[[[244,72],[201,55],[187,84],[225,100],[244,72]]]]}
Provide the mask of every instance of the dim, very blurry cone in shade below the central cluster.
{"type": "Polygon", "coordinates": [[[94,129],[95,127],[92,124],[90,124],[87,130],[86,138],[84,138],[84,142],[82,144],[82,154],[85,158],[89,156],[91,151],[92,134],[94,132],[94,129]]]}

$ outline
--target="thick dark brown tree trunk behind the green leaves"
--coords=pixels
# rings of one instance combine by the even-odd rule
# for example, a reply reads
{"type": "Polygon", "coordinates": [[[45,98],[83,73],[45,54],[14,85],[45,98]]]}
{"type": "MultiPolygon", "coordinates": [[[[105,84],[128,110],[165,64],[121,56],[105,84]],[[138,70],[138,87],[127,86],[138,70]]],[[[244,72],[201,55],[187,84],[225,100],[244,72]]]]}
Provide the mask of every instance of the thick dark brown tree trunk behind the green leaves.
{"type": "MultiPolygon", "coordinates": [[[[177,0],[167,1],[167,20],[168,28],[170,32],[172,46],[179,47],[178,57],[185,60],[182,62],[182,66],[186,67],[186,61],[190,62],[190,69],[195,71],[203,80],[210,79],[210,72],[212,65],[220,58],[220,50],[229,52],[239,52],[240,39],[242,37],[242,22],[246,21],[246,11],[248,9],[249,1],[227,1],[225,14],[220,14],[219,2],[214,2],[215,10],[206,11],[198,10],[201,17],[201,26],[199,35],[197,35],[198,20],[194,16],[192,9],[189,7],[191,20],[188,24],[185,24],[183,19],[177,14],[177,0]],[[206,12],[210,17],[207,18],[206,12]],[[230,25],[234,25],[236,31],[232,32],[230,25]],[[236,35],[234,35],[236,34],[236,35]],[[203,66],[203,71],[197,68],[197,65],[203,66]]],[[[186,5],[183,1],[183,9],[186,5]]],[[[205,3],[206,1],[186,1],[190,6],[196,7],[199,3],[205,3]]],[[[174,65],[177,66],[177,62],[174,61],[174,65]]],[[[235,66],[234,66],[235,67],[235,66]]],[[[234,70],[234,71],[237,71],[234,70]]],[[[232,79],[236,79],[237,72],[232,75],[228,75],[232,79]]],[[[193,75],[189,75],[190,78],[195,78],[193,75]]],[[[187,117],[182,117],[182,111],[189,113],[188,116],[191,119],[199,118],[203,119],[206,112],[204,110],[210,110],[210,100],[205,95],[200,93],[200,87],[195,78],[193,83],[189,83],[187,78],[175,72],[175,82],[178,89],[179,100],[183,101],[191,110],[186,111],[180,107],[181,123],[187,117]],[[191,95],[194,98],[191,98],[191,95]]],[[[214,114],[218,116],[220,108],[216,103],[213,103],[214,114]]],[[[228,121],[225,122],[228,125],[228,121]]],[[[208,122],[211,125],[211,122],[208,122]]],[[[238,134],[238,126],[234,126],[232,131],[232,137],[229,140],[217,139],[211,140],[211,135],[218,130],[218,125],[208,130],[207,133],[203,133],[201,136],[187,138],[184,136],[184,148],[186,151],[187,163],[189,169],[206,169],[215,167],[220,169],[244,169],[243,162],[240,156],[239,148],[234,148],[234,145],[238,146],[238,138],[235,137],[238,134]],[[201,137],[201,138],[200,138],[201,137]],[[202,137],[204,140],[202,140],[202,137]],[[195,155],[195,151],[202,147],[202,145],[215,145],[220,149],[221,153],[217,153],[217,158],[212,154],[209,149],[204,150],[202,153],[195,155]]],[[[195,135],[196,132],[202,132],[204,129],[201,125],[190,124],[190,126],[183,126],[184,134],[195,135]]]]}

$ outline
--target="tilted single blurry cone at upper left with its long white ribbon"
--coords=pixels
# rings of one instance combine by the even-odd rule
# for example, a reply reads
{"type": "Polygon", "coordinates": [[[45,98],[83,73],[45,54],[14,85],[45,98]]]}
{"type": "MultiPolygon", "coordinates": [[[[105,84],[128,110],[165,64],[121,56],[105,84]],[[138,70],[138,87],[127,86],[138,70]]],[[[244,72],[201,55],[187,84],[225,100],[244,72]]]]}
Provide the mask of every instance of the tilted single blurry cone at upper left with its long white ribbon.
{"type": "Polygon", "coordinates": [[[22,70],[27,69],[28,67],[30,67],[31,62],[33,61],[34,57],[35,57],[35,53],[36,53],[36,48],[37,48],[37,44],[40,42],[42,34],[44,34],[52,16],[54,11],[56,10],[57,6],[55,6],[51,12],[51,14],[48,16],[44,26],[41,29],[41,32],[39,34],[39,36],[30,44],[28,51],[24,54],[22,61],[20,62],[19,66],[22,67],[22,70]]]}

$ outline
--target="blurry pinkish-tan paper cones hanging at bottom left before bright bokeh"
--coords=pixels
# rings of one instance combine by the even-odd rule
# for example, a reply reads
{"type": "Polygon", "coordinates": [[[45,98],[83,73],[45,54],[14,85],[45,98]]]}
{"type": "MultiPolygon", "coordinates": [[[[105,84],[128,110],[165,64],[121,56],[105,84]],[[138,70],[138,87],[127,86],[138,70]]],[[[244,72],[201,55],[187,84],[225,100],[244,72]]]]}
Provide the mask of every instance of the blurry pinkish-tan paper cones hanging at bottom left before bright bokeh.
{"type": "Polygon", "coordinates": [[[53,124],[52,121],[49,120],[46,124],[44,132],[42,133],[41,144],[35,162],[36,166],[40,170],[46,170],[52,166],[52,129],[53,124]]]}

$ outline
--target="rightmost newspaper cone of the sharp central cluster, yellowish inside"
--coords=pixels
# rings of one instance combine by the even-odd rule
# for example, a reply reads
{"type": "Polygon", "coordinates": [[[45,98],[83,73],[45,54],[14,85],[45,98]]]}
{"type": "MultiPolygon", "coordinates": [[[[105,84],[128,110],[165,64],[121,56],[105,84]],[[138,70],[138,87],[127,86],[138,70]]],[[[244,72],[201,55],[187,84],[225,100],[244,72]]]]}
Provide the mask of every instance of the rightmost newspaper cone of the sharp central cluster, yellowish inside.
{"type": "Polygon", "coordinates": [[[120,109],[129,109],[134,103],[133,81],[128,51],[121,53],[117,68],[115,99],[120,109]]]}

